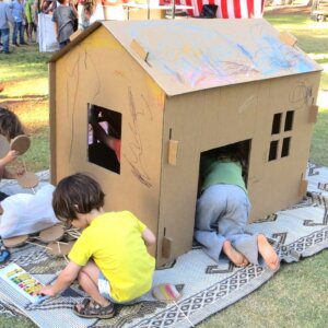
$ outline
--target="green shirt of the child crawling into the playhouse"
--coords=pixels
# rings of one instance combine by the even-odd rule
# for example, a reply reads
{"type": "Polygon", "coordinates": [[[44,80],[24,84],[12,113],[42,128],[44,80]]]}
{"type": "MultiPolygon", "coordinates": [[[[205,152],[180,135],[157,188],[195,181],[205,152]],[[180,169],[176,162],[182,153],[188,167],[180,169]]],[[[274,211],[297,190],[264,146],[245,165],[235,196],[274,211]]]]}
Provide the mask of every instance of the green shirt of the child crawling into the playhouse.
{"type": "Polygon", "coordinates": [[[213,185],[226,184],[238,186],[247,194],[239,162],[203,156],[200,162],[200,169],[203,176],[201,191],[213,185]]]}

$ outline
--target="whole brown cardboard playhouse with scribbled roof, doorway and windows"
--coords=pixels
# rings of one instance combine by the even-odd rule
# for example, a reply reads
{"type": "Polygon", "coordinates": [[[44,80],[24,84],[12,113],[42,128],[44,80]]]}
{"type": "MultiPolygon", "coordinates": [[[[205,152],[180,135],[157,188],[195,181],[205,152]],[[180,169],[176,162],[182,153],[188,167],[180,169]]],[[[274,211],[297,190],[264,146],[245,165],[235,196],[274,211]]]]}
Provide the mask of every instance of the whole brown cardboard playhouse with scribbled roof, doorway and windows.
{"type": "Polygon", "coordinates": [[[49,67],[52,183],[91,173],[155,232],[157,267],[191,247],[204,152],[246,149],[250,221],[306,191],[320,67],[265,20],[97,22],[49,67]]]}

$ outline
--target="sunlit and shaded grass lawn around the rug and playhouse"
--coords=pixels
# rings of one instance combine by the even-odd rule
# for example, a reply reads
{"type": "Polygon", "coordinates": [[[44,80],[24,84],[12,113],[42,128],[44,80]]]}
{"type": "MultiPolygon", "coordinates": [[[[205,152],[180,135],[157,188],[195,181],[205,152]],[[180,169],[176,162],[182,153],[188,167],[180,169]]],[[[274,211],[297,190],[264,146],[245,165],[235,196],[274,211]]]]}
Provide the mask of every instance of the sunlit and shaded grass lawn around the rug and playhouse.
{"type": "MultiPolygon", "coordinates": [[[[328,90],[328,22],[315,23],[306,15],[268,15],[279,30],[288,30],[298,46],[317,60],[326,71],[321,90],[328,90]]],[[[0,106],[14,110],[32,137],[32,149],[25,155],[28,169],[49,167],[48,78],[49,55],[37,48],[15,48],[10,56],[0,55],[0,106]],[[2,103],[2,104],[1,104],[2,103]]],[[[319,109],[314,128],[311,160],[328,166],[328,108],[319,109]]],[[[282,265],[277,276],[241,302],[200,325],[208,327],[327,327],[328,251],[300,263],[282,265]]],[[[34,327],[27,320],[0,317],[1,327],[34,327]]]]}

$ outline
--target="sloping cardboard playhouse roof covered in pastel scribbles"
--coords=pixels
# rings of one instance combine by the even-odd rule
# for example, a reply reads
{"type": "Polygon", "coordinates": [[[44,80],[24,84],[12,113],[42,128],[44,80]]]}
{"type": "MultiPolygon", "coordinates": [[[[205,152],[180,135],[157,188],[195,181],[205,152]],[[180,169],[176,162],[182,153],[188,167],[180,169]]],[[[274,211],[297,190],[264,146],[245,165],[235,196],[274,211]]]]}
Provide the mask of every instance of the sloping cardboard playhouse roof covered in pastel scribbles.
{"type": "MultiPolygon", "coordinates": [[[[279,38],[266,20],[103,21],[92,25],[50,61],[103,24],[169,95],[293,75],[321,68],[279,38]],[[131,46],[136,40],[147,61],[131,46]]],[[[134,43],[136,44],[136,43],[134,43]]]]}

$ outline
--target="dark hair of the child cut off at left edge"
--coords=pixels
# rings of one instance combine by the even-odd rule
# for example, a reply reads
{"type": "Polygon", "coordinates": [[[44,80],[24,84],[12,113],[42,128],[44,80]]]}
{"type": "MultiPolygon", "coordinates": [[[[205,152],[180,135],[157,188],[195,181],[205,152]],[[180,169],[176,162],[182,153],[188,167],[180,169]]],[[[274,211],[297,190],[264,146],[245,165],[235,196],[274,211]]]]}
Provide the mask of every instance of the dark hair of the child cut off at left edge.
{"type": "Polygon", "coordinates": [[[23,126],[16,115],[2,107],[0,107],[0,134],[7,139],[24,134],[23,126]]]}

